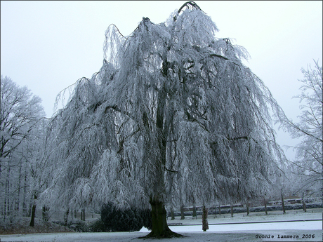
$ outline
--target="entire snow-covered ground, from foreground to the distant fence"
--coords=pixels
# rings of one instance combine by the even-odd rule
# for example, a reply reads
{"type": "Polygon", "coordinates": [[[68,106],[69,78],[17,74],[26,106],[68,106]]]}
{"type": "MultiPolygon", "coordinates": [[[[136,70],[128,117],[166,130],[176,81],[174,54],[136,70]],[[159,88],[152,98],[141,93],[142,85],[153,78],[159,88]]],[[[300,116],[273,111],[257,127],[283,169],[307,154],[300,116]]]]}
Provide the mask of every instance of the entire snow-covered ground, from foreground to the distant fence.
{"type": "MultiPolygon", "coordinates": [[[[286,214],[274,213],[264,215],[264,213],[253,213],[249,216],[236,214],[217,216],[209,215],[209,230],[202,231],[202,220],[198,217],[185,217],[185,220],[168,220],[180,222],[182,226],[170,226],[171,230],[183,234],[183,238],[171,238],[166,241],[174,242],[202,242],[202,241],[323,241],[322,240],[322,211],[323,209],[308,210],[303,213],[301,210],[288,210],[286,214]],[[296,213],[297,212],[297,213],[296,213]],[[295,220],[316,220],[316,221],[296,221],[295,220]],[[244,222],[244,224],[242,224],[244,222]],[[252,223],[254,222],[254,223],[252,223]],[[239,223],[239,224],[233,224],[239,223]],[[195,225],[197,224],[197,225],[195,225]],[[286,238],[288,236],[288,238],[286,238]]],[[[150,242],[159,241],[154,239],[142,240],[138,237],[145,236],[149,231],[145,228],[138,232],[119,233],[60,233],[60,234],[20,234],[0,236],[0,241],[120,241],[120,242],[150,242]]]]}

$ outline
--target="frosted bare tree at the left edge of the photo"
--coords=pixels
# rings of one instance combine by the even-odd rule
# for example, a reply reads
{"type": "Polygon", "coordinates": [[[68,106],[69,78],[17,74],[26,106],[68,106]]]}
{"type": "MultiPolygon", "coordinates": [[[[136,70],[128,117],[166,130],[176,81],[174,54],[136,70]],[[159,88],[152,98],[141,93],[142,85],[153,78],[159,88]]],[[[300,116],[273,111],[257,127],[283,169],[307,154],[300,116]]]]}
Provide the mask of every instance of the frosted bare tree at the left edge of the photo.
{"type": "Polygon", "coordinates": [[[1,76],[0,208],[4,222],[25,214],[35,130],[44,116],[41,99],[1,76]]]}

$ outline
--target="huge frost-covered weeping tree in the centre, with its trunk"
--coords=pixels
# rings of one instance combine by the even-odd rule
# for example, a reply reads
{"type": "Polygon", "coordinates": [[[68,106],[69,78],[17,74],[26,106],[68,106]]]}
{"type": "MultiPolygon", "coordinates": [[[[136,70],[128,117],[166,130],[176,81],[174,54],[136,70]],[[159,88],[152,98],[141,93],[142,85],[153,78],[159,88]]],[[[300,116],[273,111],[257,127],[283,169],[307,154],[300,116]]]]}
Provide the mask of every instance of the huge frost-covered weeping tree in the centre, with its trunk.
{"type": "Polygon", "coordinates": [[[282,159],[270,126],[277,103],[242,64],[244,48],[217,31],[192,1],[129,36],[110,25],[100,72],[77,81],[51,122],[57,169],[43,196],[150,207],[147,236],[160,238],[179,236],[167,206],[261,193],[282,159]]]}

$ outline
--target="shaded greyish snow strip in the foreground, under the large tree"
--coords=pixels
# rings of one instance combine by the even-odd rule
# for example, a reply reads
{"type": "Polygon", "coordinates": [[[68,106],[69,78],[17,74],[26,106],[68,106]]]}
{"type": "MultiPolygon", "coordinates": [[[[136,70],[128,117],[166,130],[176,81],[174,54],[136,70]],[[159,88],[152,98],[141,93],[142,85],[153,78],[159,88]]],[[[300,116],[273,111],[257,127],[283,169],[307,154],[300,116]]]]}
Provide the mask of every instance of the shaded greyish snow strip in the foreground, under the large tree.
{"type": "MultiPolygon", "coordinates": [[[[309,224],[310,226],[310,224],[309,224]]],[[[109,242],[156,242],[157,239],[140,239],[145,236],[145,232],[119,232],[119,233],[60,233],[60,234],[25,234],[14,236],[1,236],[3,241],[55,241],[55,242],[89,242],[89,241],[109,241],[109,242]]],[[[277,230],[277,231],[206,231],[206,232],[183,232],[183,238],[171,238],[164,241],[171,242],[206,242],[206,241],[237,241],[237,242],[261,242],[261,241],[322,241],[322,230],[277,230]],[[265,238],[267,236],[267,238],[265,238]],[[269,236],[269,238],[268,238],[269,236]],[[291,238],[284,238],[291,236],[291,238]],[[305,238],[310,236],[311,238],[305,238]],[[314,238],[312,238],[314,236],[314,238]],[[298,238],[297,238],[298,237],[298,238]],[[303,238],[304,237],[304,238],[303,238]]]]}

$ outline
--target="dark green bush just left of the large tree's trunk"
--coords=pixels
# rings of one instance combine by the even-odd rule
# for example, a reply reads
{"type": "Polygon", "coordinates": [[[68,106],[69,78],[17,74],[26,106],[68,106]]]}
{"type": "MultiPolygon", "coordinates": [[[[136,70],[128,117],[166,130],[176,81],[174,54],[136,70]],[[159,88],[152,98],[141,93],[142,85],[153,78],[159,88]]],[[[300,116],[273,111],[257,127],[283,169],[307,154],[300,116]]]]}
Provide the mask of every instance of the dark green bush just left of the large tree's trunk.
{"type": "Polygon", "coordinates": [[[101,220],[105,231],[139,231],[142,227],[152,228],[150,210],[136,208],[121,210],[112,203],[102,206],[101,220]]]}

